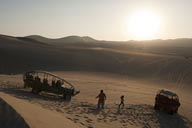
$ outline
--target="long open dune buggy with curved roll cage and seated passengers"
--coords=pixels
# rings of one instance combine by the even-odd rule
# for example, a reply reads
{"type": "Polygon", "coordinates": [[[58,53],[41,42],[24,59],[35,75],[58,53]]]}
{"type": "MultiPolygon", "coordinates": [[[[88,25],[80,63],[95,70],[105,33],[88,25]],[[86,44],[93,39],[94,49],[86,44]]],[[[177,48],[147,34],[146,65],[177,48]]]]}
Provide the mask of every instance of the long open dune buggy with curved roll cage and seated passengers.
{"type": "Polygon", "coordinates": [[[23,74],[23,81],[24,88],[32,88],[32,93],[45,91],[62,95],[65,100],[71,100],[71,97],[80,92],[68,81],[47,71],[28,71],[23,74]]]}

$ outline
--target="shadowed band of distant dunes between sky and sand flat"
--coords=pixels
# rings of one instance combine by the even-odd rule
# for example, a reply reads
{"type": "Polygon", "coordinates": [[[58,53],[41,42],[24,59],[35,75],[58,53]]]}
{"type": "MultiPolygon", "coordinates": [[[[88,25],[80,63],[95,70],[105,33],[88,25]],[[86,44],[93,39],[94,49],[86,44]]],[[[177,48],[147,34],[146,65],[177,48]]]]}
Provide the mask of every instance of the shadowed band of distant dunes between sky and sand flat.
{"type": "Polygon", "coordinates": [[[192,39],[100,41],[69,36],[0,35],[0,73],[98,71],[191,83],[192,39]]]}

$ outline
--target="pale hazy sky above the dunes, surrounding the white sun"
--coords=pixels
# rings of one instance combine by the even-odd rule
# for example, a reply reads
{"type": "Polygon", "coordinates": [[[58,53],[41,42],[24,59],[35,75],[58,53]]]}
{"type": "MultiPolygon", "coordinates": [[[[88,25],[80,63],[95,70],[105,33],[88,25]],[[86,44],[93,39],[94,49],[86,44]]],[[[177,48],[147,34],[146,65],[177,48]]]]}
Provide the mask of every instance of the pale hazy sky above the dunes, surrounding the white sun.
{"type": "Polygon", "coordinates": [[[0,0],[0,33],[137,40],[127,24],[142,10],[161,22],[149,39],[192,38],[192,0],[0,0]]]}

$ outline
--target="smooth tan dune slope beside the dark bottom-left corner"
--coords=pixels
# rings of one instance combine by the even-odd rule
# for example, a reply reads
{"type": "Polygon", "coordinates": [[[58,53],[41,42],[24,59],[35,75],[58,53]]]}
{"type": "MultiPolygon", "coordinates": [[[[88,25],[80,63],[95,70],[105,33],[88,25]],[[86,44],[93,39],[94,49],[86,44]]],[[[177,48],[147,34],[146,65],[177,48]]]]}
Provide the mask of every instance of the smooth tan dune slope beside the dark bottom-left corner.
{"type": "MultiPolygon", "coordinates": [[[[25,119],[31,128],[80,128],[80,126],[77,124],[75,125],[59,113],[43,109],[39,106],[27,103],[4,93],[0,93],[0,97],[10,104],[25,119]]],[[[14,115],[10,113],[7,116],[12,118],[14,115]]],[[[20,123],[20,125],[9,125],[9,128],[13,127],[28,128],[26,124],[22,123],[20,123]]]]}

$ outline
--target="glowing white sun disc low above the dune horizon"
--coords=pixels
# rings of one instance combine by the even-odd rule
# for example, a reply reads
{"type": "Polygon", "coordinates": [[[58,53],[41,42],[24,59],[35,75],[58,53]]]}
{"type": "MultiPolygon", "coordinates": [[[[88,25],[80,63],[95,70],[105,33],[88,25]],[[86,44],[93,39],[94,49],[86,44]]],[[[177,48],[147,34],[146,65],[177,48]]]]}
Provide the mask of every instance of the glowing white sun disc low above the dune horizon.
{"type": "Polygon", "coordinates": [[[160,29],[160,18],[155,13],[141,11],[128,19],[128,31],[136,39],[151,39],[160,29]]]}

